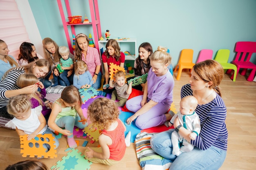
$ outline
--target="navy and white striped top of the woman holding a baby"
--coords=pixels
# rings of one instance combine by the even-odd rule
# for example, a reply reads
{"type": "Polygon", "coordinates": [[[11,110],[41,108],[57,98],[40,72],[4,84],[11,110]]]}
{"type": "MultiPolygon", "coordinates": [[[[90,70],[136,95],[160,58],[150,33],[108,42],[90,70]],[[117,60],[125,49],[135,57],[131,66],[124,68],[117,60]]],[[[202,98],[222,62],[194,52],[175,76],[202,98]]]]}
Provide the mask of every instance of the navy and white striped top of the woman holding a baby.
{"type": "MultiPolygon", "coordinates": [[[[181,89],[181,98],[188,95],[193,95],[190,84],[182,86],[181,89]]],[[[191,144],[202,150],[216,146],[227,151],[228,132],[225,124],[227,109],[222,98],[218,94],[216,95],[216,98],[211,102],[203,105],[198,104],[195,109],[200,117],[202,130],[195,140],[191,140],[191,144]]]]}

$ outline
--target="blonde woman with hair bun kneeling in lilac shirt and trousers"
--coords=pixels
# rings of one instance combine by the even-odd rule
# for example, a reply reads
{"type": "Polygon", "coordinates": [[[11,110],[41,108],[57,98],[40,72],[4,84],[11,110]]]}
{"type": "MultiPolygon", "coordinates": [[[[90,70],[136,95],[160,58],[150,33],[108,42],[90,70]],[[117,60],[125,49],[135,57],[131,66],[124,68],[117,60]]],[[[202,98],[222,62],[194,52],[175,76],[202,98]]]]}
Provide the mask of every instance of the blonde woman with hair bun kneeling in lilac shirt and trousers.
{"type": "Polygon", "coordinates": [[[144,94],[133,97],[126,102],[126,107],[135,112],[126,122],[135,124],[140,129],[151,128],[164,124],[171,119],[166,113],[173,102],[174,80],[167,66],[171,64],[171,55],[167,48],[158,46],[150,56],[151,68],[148,72],[144,94]]]}

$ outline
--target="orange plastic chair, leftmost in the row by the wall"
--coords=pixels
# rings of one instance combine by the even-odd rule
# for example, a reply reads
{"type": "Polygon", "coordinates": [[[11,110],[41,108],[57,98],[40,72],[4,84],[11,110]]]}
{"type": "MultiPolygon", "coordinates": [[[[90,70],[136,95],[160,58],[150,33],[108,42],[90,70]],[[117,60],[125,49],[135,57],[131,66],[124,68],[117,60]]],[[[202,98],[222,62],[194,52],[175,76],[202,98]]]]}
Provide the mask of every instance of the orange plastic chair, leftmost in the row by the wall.
{"type": "Polygon", "coordinates": [[[195,65],[193,63],[193,52],[194,51],[192,49],[183,49],[181,51],[179,63],[174,69],[174,72],[175,72],[179,66],[179,71],[176,77],[177,80],[180,80],[181,72],[184,68],[192,69],[193,66],[195,65]]]}

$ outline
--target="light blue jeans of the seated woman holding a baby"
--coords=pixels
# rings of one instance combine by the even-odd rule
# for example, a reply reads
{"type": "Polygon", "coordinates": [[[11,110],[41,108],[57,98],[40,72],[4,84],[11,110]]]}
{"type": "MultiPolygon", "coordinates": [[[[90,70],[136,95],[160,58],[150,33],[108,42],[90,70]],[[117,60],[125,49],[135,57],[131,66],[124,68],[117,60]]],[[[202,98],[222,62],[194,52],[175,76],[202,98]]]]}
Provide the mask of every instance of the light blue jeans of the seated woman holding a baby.
{"type": "Polygon", "coordinates": [[[174,129],[160,132],[150,139],[151,148],[162,157],[173,161],[169,170],[218,170],[225,161],[227,152],[211,146],[207,150],[195,147],[176,157],[172,154],[171,133],[174,129]]]}

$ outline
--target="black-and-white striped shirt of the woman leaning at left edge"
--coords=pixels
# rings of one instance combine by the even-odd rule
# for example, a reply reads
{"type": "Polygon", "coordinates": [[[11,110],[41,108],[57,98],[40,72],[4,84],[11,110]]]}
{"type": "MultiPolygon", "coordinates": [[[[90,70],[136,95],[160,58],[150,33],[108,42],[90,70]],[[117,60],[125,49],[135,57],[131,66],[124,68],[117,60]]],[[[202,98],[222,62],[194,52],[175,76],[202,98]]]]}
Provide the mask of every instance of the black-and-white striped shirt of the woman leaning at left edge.
{"type": "Polygon", "coordinates": [[[5,92],[8,90],[20,89],[16,81],[18,77],[25,73],[24,67],[14,67],[9,69],[0,81],[0,108],[7,106],[9,98],[5,96],[5,92]]]}

